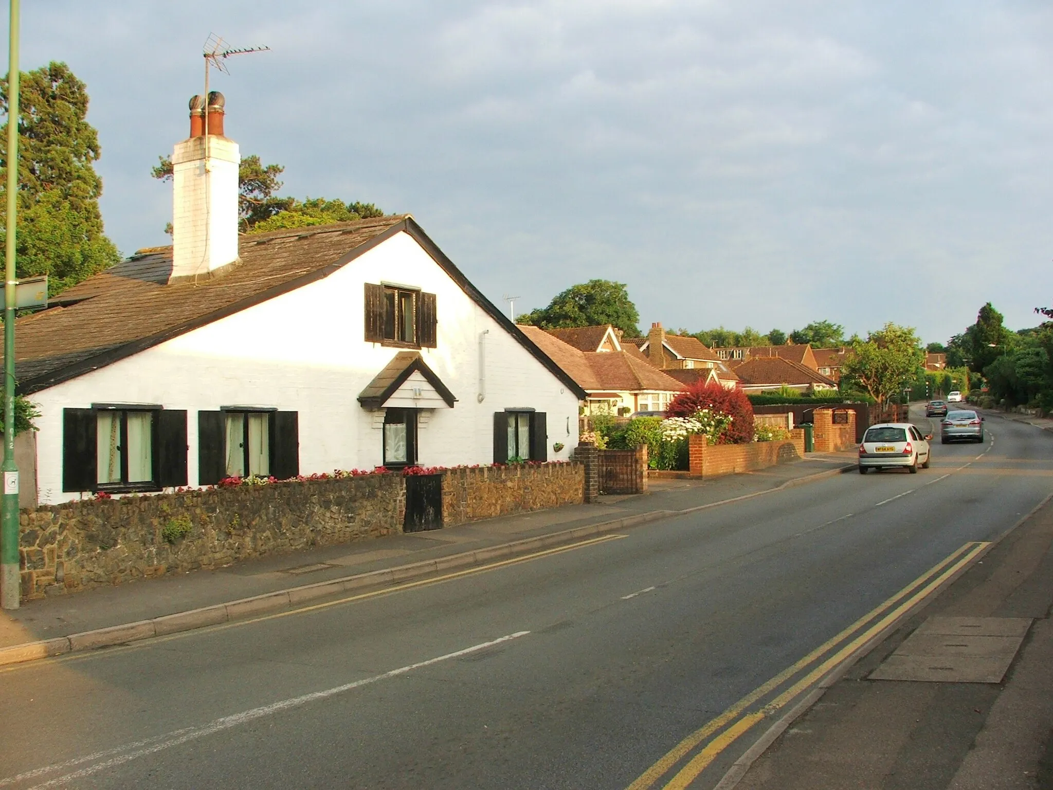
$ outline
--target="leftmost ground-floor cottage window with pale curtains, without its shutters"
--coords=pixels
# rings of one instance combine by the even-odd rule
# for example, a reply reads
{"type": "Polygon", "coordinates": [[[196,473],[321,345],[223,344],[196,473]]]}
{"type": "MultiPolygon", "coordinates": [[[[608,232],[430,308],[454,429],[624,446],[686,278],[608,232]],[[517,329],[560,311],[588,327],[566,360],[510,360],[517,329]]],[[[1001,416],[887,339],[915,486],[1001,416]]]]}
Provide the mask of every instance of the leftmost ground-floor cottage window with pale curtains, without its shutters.
{"type": "Polygon", "coordinates": [[[153,411],[104,409],[96,413],[96,482],[99,488],[154,483],[153,411]]]}

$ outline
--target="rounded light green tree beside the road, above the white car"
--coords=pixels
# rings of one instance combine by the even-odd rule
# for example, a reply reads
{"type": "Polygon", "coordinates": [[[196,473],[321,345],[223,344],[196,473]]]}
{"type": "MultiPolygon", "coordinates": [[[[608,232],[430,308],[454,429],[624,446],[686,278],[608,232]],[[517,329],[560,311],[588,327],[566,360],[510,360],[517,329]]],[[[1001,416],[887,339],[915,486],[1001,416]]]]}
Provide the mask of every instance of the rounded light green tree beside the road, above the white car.
{"type": "Polygon", "coordinates": [[[887,323],[852,343],[841,364],[841,387],[858,387],[883,404],[920,375],[925,352],[913,329],[887,323]]]}

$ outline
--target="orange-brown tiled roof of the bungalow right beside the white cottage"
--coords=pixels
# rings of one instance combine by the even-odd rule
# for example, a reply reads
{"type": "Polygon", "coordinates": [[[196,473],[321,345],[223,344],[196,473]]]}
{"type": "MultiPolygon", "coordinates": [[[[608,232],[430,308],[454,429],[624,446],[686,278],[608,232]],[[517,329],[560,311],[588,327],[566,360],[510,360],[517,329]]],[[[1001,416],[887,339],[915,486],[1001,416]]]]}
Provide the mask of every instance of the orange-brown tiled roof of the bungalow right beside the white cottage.
{"type": "Polygon", "coordinates": [[[681,384],[654,368],[639,352],[585,352],[537,327],[520,327],[541,351],[590,392],[680,392],[681,384]]]}

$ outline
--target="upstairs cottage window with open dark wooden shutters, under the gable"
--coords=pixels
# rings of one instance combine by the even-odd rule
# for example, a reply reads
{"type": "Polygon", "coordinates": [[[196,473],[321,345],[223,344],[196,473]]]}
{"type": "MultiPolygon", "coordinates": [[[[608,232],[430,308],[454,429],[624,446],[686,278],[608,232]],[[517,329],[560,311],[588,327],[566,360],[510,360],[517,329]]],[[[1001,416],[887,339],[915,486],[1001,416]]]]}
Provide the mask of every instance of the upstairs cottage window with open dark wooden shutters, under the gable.
{"type": "Polygon", "coordinates": [[[408,285],[365,283],[365,340],[412,349],[436,348],[436,299],[408,285]]]}

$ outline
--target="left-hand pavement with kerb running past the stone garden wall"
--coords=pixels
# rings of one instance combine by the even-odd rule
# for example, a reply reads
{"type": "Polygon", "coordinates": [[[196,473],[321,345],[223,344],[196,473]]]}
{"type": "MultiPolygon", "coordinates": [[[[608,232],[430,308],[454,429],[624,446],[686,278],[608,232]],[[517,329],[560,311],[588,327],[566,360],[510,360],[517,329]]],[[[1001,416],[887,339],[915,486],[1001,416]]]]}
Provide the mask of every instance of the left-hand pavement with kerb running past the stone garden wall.
{"type": "Polygon", "coordinates": [[[587,539],[693,510],[822,479],[855,452],[711,480],[652,480],[645,494],[602,496],[442,530],[392,535],[246,560],[23,604],[0,613],[0,665],[94,649],[287,609],[378,585],[587,539]]]}

